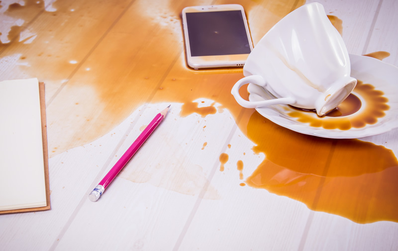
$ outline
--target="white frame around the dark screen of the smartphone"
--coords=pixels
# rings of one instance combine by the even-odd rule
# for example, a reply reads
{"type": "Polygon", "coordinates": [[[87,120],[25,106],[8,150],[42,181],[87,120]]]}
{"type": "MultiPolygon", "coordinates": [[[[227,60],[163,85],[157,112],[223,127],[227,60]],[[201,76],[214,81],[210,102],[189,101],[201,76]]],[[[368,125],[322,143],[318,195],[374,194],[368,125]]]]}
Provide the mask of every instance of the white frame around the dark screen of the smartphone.
{"type": "Polygon", "coordinates": [[[191,49],[189,43],[187,17],[188,12],[209,12],[209,11],[226,11],[226,10],[240,10],[242,12],[243,22],[246,29],[247,40],[249,41],[250,51],[253,50],[253,43],[250,36],[249,26],[247,25],[245,11],[240,4],[219,4],[219,5],[204,5],[204,6],[190,6],[185,7],[182,12],[184,39],[186,46],[187,63],[194,69],[200,68],[217,68],[217,67],[242,67],[244,66],[249,54],[234,54],[234,55],[214,55],[214,56],[191,56],[191,49]]]}

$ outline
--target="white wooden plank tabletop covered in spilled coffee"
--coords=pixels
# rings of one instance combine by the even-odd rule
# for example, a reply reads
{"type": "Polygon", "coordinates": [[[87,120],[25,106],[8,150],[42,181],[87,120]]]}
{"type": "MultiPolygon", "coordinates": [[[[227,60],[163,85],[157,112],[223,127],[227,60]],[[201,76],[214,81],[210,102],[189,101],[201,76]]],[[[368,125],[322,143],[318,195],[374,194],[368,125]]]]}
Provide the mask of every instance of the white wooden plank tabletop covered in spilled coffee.
{"type": "MultiPolygon", "coordinates": [[[[319,2],[349,53],[389,53],[383,61],[398,66],[396,1],[319,2]]],[[[1,1],[0,79],[46,87],[52,209],[1,215],[0,250],[398,249],[398,131],[323,139],[240,107],[230,89],[242,69],[195,71],[185,61],[181,10],[221,3],[232,2],[1,1]]],[[[305,2],[233,3],[256,45],[305,2]]]]}

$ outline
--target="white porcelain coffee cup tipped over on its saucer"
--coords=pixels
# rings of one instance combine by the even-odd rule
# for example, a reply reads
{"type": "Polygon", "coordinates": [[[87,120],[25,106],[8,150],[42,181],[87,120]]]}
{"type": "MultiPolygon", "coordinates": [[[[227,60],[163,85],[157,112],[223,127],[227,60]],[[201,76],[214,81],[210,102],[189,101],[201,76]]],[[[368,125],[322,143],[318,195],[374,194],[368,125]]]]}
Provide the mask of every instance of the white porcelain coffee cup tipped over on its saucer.
{"type": "Polygon", "coordinates": [[[336,108],[354,89],[351,65],[340,33],[322,4],[305,4],[286,15],[258,42],[243,67],[245,78],[231,93],[246,108],[290,104],[315,109],[319,116],[336,108]],[[243,99],[239,88],[257,84],[276,98],[243,99]]]}

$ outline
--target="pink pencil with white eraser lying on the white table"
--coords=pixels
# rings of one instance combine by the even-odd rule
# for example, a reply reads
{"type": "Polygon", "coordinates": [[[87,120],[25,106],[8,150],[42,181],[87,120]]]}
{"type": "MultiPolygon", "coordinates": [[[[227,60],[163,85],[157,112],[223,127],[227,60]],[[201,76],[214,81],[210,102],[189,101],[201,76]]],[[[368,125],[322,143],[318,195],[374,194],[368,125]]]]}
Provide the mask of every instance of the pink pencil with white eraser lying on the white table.
{"type": "Polygon", "coordinates": [[[133,144],[127,149],[123,156],[116,162],[116,164],[106,173],[105,177],[100,181],[100,183],[94,188],[90,193],[89,198],[91,201],[97,201],[106,187],[112,182],[116,175],[123,169],[127,162],[133,157],[137,150],[144,144],[148,137],[155,131],[156,127],[162,122],[166,117],[167,111],[170,105],[166,107],[163,111],[158,113],[155,118],[149,123],[149,125],[144,129],[144,131],[138,136],[138,138],[133,142],[133,144]]]}

